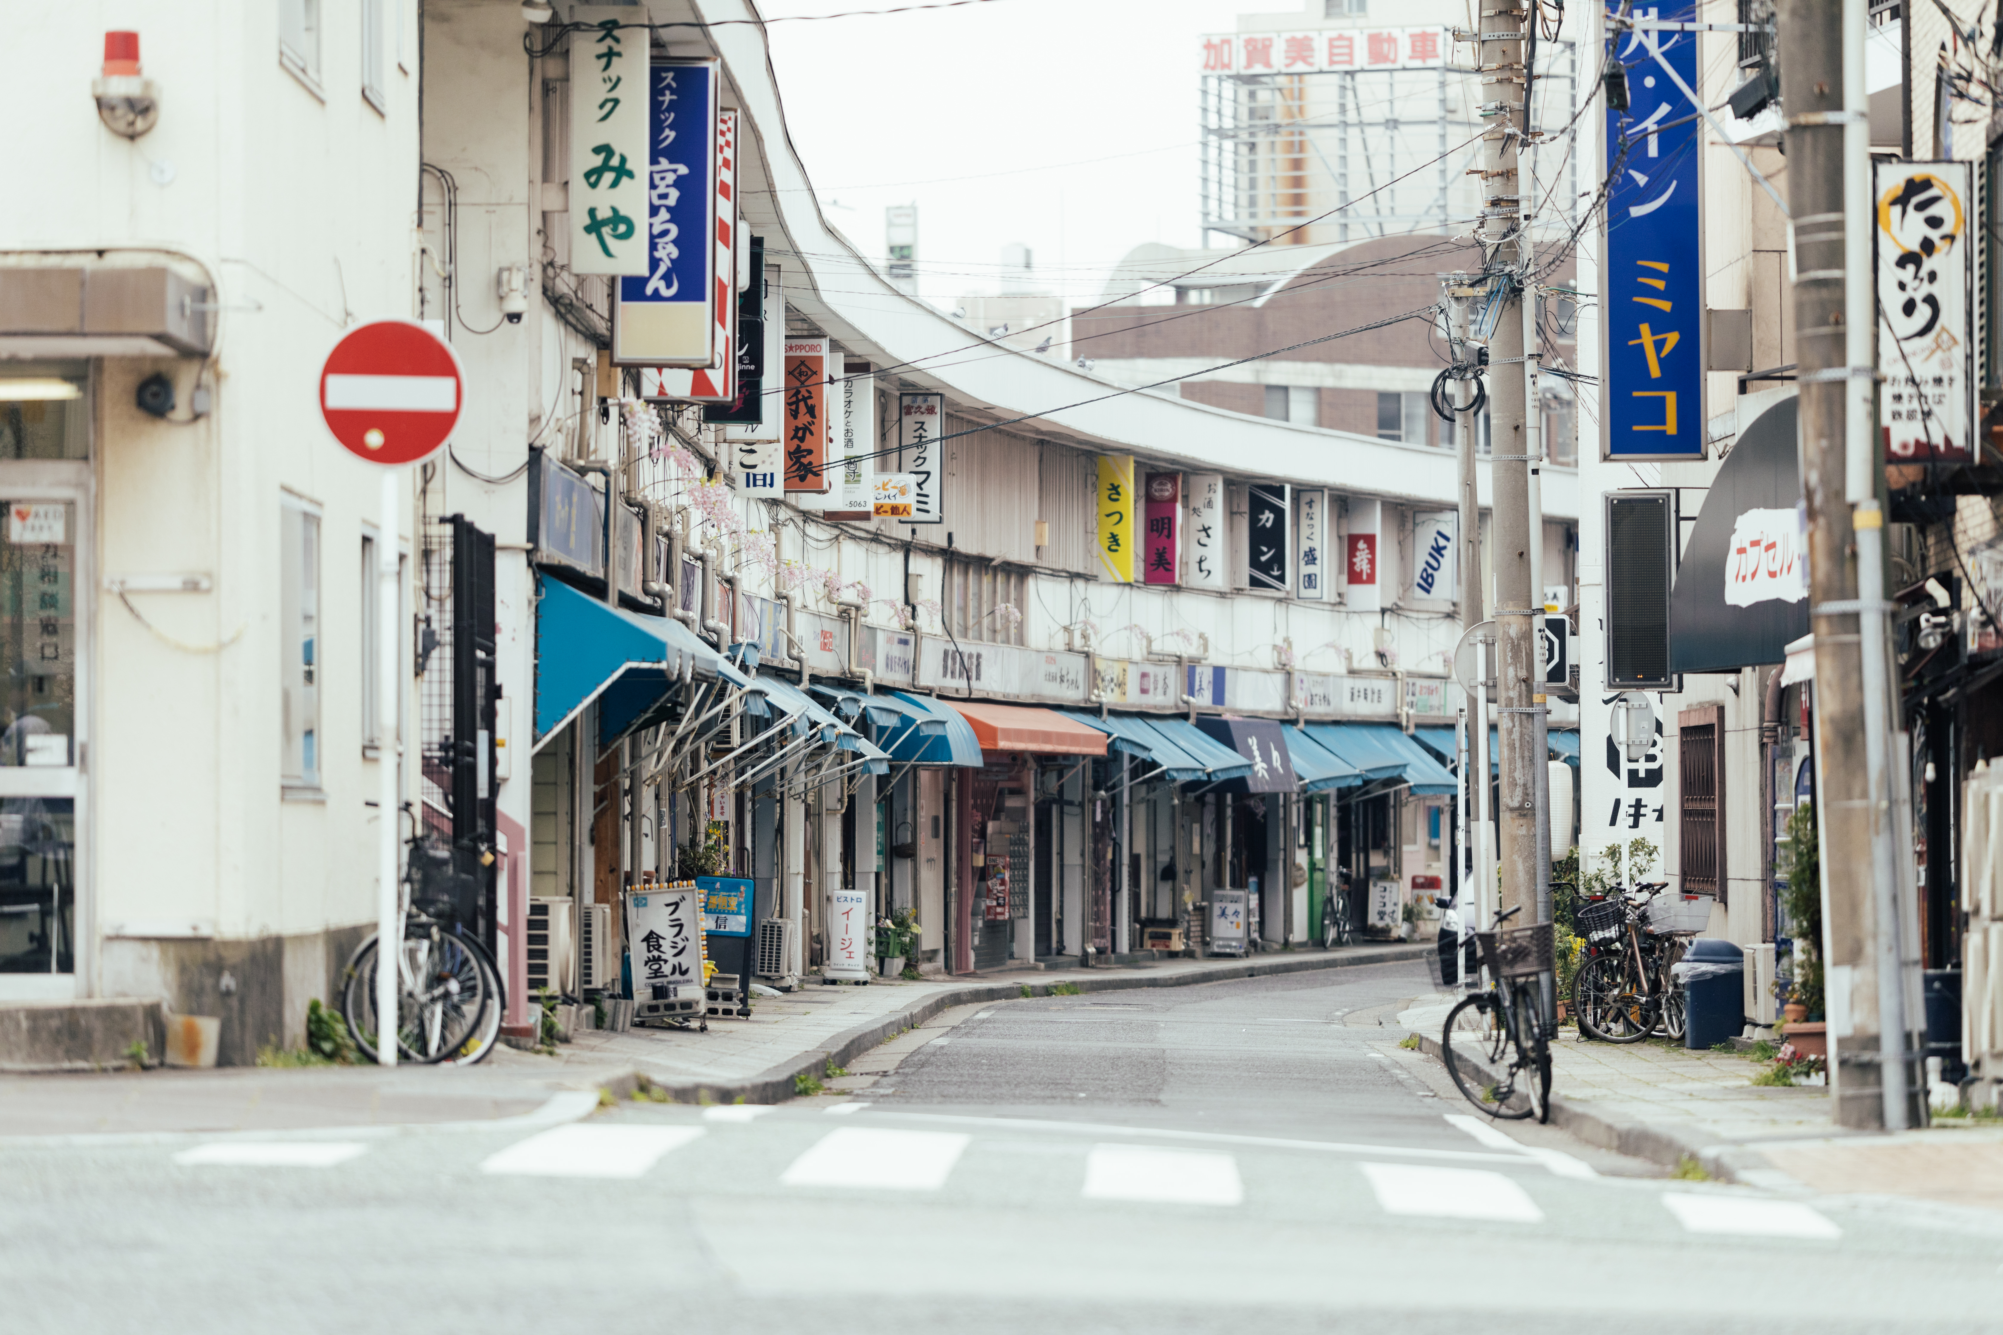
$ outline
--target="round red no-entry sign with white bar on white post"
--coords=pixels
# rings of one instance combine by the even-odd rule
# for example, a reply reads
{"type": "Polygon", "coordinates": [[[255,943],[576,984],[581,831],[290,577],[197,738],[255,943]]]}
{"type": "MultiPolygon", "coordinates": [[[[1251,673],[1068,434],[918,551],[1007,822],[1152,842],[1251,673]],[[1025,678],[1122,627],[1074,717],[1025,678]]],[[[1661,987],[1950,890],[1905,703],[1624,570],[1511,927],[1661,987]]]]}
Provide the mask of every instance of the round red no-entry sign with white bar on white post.
{"type": "Polygon", "coordinates": [[[371,320],[320,366],[320,416],[373,464],[415,464],[453,436],[467,376],[453,344],[415,320],[371,320]]]}

